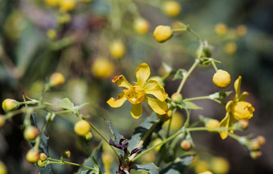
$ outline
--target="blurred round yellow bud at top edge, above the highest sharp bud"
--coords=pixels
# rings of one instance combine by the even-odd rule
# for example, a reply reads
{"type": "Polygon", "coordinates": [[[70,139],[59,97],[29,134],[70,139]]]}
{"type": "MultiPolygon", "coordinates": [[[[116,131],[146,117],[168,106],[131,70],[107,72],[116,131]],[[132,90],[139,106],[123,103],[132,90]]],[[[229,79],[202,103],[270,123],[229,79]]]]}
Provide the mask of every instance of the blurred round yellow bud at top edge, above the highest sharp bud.
{"type": "Polygon", "coordinates": [[[181,5],[177,1],[167,0],[163,3],[162,10],[164,14],[174,17],[180,13],[181,5]]]}

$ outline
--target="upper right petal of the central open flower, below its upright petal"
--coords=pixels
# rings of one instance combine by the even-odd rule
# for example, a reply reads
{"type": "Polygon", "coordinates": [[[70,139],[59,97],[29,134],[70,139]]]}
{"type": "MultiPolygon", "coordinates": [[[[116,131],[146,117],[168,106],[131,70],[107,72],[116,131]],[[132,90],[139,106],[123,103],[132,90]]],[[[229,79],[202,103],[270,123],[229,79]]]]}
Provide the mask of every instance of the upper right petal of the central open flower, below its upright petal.
{"type": "Polygon", "coordinates": [[[159,83],[155,80],[148,80],[144,88],[146,94],[154,95],[161,102],[165,101],[166,98],[168,97],[168,94],[165,93],[164,87],[159,85],[159,83]]]}

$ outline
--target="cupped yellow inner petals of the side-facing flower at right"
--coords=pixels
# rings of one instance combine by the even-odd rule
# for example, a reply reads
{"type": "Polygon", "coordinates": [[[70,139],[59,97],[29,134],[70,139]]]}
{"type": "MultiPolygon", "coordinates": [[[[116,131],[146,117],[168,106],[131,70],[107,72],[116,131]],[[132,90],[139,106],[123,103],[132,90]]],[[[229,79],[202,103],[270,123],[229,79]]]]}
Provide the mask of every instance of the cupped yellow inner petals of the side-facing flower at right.
{"type": "Polygon", "coordinates": [[[237,120],[250,119],[255,108],[249,102],[235,102],[231,106],[231,113],[237,120]]]}

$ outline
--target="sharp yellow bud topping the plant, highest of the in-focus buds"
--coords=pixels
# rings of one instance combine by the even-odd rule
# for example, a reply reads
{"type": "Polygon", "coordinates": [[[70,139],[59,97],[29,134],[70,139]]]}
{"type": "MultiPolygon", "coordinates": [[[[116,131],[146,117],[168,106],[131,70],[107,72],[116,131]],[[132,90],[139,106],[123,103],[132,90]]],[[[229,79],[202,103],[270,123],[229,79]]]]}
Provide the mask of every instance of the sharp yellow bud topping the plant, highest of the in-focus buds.
{"type": "Polygon", "coordinates": [[[173,30],[169,26],[159,25],[154,30],[154,38],[159,43],[169,40],[173,36],[173,30]]]}

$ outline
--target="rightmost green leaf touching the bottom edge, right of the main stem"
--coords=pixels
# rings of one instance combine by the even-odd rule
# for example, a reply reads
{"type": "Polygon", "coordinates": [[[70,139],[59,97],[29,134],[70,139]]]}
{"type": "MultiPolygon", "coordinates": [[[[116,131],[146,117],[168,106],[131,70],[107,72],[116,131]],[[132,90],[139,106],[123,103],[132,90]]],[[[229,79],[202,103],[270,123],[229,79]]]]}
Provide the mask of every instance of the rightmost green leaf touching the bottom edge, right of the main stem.
{"type": "Polygon", "coordinates": [[[189,165],[193,163],[194,155],[186,155],[177,158],[173,163],[160,171],[160,174],[183,174],[189,165]]]}

